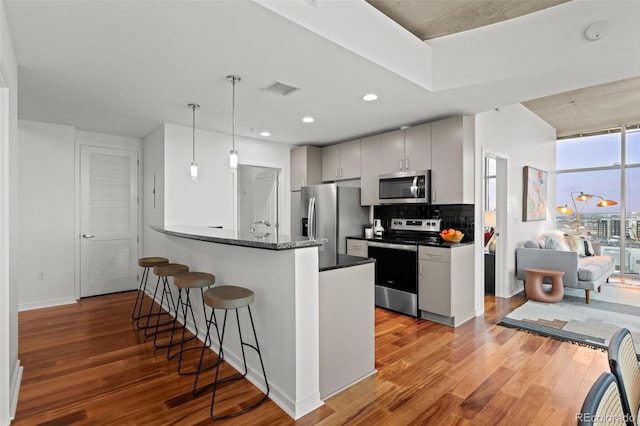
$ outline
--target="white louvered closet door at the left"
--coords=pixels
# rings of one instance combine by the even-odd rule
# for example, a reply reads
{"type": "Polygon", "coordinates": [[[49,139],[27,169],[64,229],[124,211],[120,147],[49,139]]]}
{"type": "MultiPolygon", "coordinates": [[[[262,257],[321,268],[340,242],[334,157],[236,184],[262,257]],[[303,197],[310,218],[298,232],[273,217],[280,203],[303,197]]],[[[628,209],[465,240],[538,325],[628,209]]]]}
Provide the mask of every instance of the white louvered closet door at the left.
{"type": "Polygon", "coordinates": [[[138,154],[80,148],[80,296],[137,288],[138,154]]]}

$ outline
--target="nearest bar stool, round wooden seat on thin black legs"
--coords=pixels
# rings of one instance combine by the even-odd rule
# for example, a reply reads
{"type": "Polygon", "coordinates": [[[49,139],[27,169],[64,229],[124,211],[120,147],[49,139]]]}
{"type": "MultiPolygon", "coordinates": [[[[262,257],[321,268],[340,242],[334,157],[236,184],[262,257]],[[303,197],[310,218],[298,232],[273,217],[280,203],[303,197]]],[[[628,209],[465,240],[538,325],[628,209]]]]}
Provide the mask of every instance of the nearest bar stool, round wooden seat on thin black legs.
{"type": "MultiPolygon", "coordinates": [[[[244,414],[252,409],[254,409],[255,407],[257,407],[258,405],[260,405],[262,402],[264,402],[267,397],[269,396],[269,382],[267,381],[267,373],[264,369],[264,363],[262,362],[262,354],[260,353],[260,346],[258,346],[258,336],[256,335],[256,328],[255,325],[253,323],[253,315],[251,314],[251,303],[253,303],[253,299],[254,299],[254,295],[253,295],[253,291],[247,289],[247,288],[243,288],[243,287],[237,287],[237,286],[232,286],[232,285],[225,285],[225,286],[218,286],[218,287],[212,287],[210,289],[208,289],[207,291],[204,292],[204,302],[211,307],[211,315],[209,317],[209,320],[207,321],[207,335],[209,335],[209,328],[211,327],[211,325],[215,325],[216,330],[218,329],[218,323],[216,321],[216,316],[215,316],[215,310],[216,309],[224,309],[224,319],[222,321],[222,333],[220,333],[220,352],[218,354],[218,361],[215,365],[216,367],[216,374],[215,374],[215,378],[213,381],[213,393],[211,395],[211,410],[210,410],[210,416],[212,420],[220,420],[220,419],[226,419],[229,417],[236,417],[239,416],[241,414],[244,414]],[[253,337],[255,340],[255,346],[245,342],[244,339],[242,338],[242,331],[241,331],[241,326],[240,326],[240,315],[238,314],[238,309],[245,307],[247,308],[247,311],[249,312],[249,319],[251,320],[251,329],[253,330],[253,337]],[[244,363],[244,373],[242,374],[236,374],[236,375],[232,375],[229,377],[225,377],[223,379],[219,379],[219,373],[220,373],[220,364],[222,363],[222,361],[224,360],[224,333],[225,333],[225,329],[226,329],[226,325],[227,325],[227,313],[229,312],[230,309],[234,309],[236,311],[236,321],[238,323],[238,335],[240,337],[240,348],[242,350],[242,361],[244,363]],[[247,373],[247,358],[245,356],[245,351],[244,351],[244,347],[250,347],[252,349],[254,349],[256,351],[256,353],[258,354],[258,358],[260,359],[260,366],[262,367],[262,375],[264,377],[264,383],[266,386],[266,393],[264,394],[264,396],[255,404],[240,410],[240,411],[236,411],[233,412],[231,414],[226,414],[224,416],[215,416],[214,415],[214,406],[215,406],[215,401],[216,401],[216,391],[218,388],[218,384],[223,383],[223,382],[227,382],[227,381],[232,381],[232,380],[239,380],[244,378],[247,373]]],[[[200,364],[198,365],[198,372],[200,371],[200,367],[202,366],[202,357],[204,356],[204,351],[205,351],[205,347],[203,347],[202,349],[202,354],[200,355],[200,364]]],[[[196,384],[198,381],[198,375],[196,375],[196,381],[194,383],[194,388],[193,388],[193,392],[194,394],[196,393],[196,384]]]]}

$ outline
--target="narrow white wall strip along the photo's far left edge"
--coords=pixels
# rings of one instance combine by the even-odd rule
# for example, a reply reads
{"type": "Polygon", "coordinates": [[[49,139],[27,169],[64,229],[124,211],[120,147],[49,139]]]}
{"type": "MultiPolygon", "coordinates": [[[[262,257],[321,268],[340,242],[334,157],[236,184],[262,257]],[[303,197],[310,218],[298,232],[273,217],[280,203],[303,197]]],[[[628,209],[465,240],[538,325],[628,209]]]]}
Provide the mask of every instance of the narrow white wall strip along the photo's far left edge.
{"type": "Polygon", "coordinates": [[[0,425],[15,414],[22,367],[18,359],[18,286],[13,249],[17,241],[18,65],[0,0],[0,425]]]}

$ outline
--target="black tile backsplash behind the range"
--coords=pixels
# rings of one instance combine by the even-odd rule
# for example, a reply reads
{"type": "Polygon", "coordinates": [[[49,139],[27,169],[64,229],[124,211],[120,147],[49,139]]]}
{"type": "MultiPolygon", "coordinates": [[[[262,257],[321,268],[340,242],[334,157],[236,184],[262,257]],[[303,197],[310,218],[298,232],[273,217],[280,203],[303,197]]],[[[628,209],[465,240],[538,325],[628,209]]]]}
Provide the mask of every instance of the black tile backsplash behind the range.
{"type": "Polygon", "coordinates": [[[454,228],[465,234],[465,240],[473,241],[473,204],[395,204],[375,206],[373,217],[382,220],[386,229],[393,218],[442,219],[442,229],[454,228]]]}

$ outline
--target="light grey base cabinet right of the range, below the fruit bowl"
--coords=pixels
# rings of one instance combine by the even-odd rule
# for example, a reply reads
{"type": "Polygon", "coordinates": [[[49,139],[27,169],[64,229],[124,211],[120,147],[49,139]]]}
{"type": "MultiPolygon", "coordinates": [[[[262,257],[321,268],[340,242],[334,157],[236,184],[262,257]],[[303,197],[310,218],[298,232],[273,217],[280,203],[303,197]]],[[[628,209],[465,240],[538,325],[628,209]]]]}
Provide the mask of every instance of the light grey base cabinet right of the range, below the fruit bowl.
{"type": "Polygon", "coordinates": [[[474,316],[474,245],[418,247],[420,317],[458,326],[474,316]]]}

